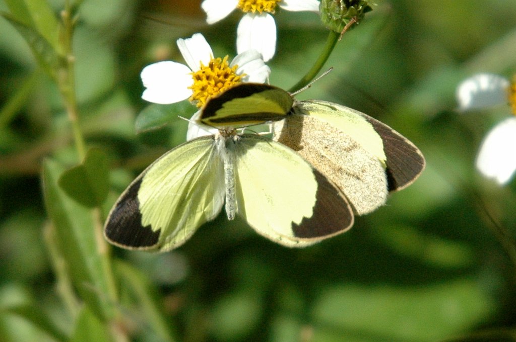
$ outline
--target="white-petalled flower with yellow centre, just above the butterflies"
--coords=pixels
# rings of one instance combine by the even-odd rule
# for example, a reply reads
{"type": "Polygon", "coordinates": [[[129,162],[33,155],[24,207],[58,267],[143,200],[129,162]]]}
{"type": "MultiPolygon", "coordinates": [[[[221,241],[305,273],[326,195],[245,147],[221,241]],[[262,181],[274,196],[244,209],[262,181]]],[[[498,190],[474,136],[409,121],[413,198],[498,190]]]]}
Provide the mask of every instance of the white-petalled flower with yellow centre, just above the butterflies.
{"type": "Polygon", "coordinates": [[[163,61],[144,67],[140,74],[143,86],[147,88],[141,96],[144,100],[172,104],[190,98],[201,107],[210,96],[234,84],[242,81],[263,83],[269,77],[269,67],[255,50],[238,54],[228,63],[227,57],[213,57],[212,48],[200,33],[178,39],[177,43],[188,66],[163,61]]]}

